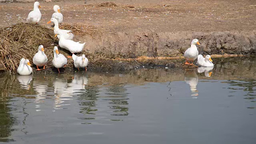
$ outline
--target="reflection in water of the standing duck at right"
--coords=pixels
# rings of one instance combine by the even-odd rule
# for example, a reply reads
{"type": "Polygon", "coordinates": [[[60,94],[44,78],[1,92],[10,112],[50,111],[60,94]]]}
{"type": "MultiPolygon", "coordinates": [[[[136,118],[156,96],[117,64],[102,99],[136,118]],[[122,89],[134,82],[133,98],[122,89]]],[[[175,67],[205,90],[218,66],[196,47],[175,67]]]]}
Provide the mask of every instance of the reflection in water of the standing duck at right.
{"type": "Polygon", "coordinates": [[[198,90],[196,90],[196,86],[198,83],[198,76],[194,70],[186,70],[184,74],[184,80],[187,84],[190,85],[190,90],[192,93],[191,96],[198,96],[198,90]]]}

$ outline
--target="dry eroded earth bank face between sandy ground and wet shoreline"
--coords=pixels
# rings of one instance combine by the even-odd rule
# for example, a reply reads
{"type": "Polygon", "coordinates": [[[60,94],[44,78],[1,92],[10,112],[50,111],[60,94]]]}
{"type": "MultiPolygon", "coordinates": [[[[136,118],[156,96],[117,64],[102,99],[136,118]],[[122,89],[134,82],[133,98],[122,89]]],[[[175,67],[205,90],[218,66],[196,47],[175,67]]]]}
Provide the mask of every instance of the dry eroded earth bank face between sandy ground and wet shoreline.
{"type": "Polygon", "coordinates": [[[104,53],[108,58],[138,56],[182,56],[192,39],[200,42],[200,54],[256,54],[256,32],[156,32],[133,30],[116,34],[98,33],[84,36],[85,50],[104,53]]]}

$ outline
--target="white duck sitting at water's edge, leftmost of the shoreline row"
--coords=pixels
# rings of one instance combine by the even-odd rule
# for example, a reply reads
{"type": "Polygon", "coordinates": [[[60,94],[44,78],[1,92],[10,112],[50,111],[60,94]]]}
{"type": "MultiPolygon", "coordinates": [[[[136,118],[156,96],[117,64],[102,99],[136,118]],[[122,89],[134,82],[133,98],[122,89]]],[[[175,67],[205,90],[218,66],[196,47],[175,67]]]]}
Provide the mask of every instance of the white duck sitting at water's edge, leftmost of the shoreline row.
{"type": "Polygon", "coordinates": [[[29,60],[22,58],[20,60],[20,65],[18,66],[17,73],[23,76],[30,75],[33,72],[29,60]]]}

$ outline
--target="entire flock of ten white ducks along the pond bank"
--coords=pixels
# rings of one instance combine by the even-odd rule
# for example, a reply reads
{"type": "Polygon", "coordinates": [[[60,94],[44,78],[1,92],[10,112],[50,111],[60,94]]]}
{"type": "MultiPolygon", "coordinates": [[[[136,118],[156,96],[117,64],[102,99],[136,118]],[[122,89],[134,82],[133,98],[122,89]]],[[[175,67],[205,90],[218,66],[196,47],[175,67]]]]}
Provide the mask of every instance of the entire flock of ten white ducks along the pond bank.
{"type": "MultiPolygon", "coordinates": [[[[28,14],[27,22],[29,23],[38,23],[41,19],[41,12],[39,10],[40,4],[39,2],[34,3],[34,10],[32,10],[28,14]]],[[[54,14],[52,14],[52,18],[50,19],[47,24],[53,22],[54,23],[54,37],[57,36],[59,39],[59,46],[64,48],[72,53],[72,57],[68,56],[68,58],[73,58],[74,66],[76,68],[85,68],[88,66],[88,59],[83,54],[82,56],[76,56],[74,53],[82,52],[85,43],[81,44],[80,42],[74,42],[72,39],[74,38],[74,34],[72,34],[71,30],[62,30],[59,28],[59,24],[63,22],[63,15],[60,13],[60,6],[55,5],[53,7],[54,14]]],[[[210,55],[206,55],[205,58],[199,54],[196,44],[200,45],[197,39],[192,40],[190,48],[188,48],[185,53],[184,57],[186,58],[186,63],[189,65],[193,65],[194,60],[197,58],[196,64],[199,66],[204,67],[213,67],[214,64],[212,63],[212,59],[210,55]],[[189,63],[191,62],[192,63],[189,63]]],[[[67,58],[63,54],[59,54],[57,46],[54,46],[54,58],[52,60],[52,64],[54,67],[58,68],[58,72],[60,73],[59,68],[62,66],[66,66],[67,58]]],[[[44,47],[41,45],[38,47],[38,52],[35,54],[33,58],[33,63],[36,65],[37,70],[40,70],[38,67],[44,66],[48,62],[48,58],[46,54],[44,54],[44,47]]],[[[30,67],[31,64],[29,60],[25,60],[22,58],[20,60],[20,65],[18,66],[17,72],[20,75],[29,75],[32,73],[32,68],[30,67]]],[[[86,69],[87,70],[87,69],[86,69]]]]}

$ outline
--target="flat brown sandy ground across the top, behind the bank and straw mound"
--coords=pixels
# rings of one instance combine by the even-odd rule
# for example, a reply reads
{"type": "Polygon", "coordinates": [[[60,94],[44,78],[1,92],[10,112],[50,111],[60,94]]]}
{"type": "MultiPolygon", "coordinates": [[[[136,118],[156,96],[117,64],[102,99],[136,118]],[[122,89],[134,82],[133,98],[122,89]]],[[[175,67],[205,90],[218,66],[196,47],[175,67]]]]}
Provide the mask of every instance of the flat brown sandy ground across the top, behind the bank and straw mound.
{"type": "MultiPolygon", "coordinates": [[[[41,2],[45,25],[58,4],[66,23],[93,24],[110,32],[152,29],[157,32],[252,31],[256,0],[109,0],[117,7],[97,7],[104,0],[41,2]]],[[[0,26],[26,22],[33,3],[0,3],[0,26]]]]}

